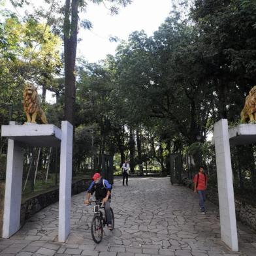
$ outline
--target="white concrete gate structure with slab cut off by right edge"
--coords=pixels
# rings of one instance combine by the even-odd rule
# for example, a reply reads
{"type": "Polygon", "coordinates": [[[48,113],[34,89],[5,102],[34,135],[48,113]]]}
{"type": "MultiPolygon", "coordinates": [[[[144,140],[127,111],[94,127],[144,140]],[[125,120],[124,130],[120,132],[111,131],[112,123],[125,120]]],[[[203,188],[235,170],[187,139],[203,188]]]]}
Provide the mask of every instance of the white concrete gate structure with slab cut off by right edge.
{"type": "Polygon", "coordinates": [[[214,124],[221,240],[233,251],[238,251],[238,237],[230,145],[252,144],[255,142],[255,124],[242,124],[231,129],[228,127],[227,119],[219,120],[214,124]]]}

